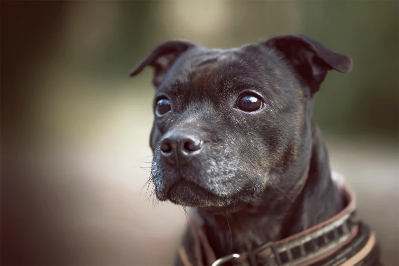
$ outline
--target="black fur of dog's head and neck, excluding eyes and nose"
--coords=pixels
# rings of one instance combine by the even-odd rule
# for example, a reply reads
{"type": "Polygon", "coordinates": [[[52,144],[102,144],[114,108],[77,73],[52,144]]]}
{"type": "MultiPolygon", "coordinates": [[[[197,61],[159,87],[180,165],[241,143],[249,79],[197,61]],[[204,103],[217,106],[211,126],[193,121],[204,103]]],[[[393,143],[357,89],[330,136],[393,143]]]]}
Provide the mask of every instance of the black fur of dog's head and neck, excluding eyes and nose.
{"type": "MultiPolygon", "coordinates": [[[[351,71],[348,57],[289,35],[227,50],[170,41],[131,75],[146,65],[155,67],[154,108],[159,97],[171,102],[151,132],[156,197],[196,207],[217,256],[277,241],[343,208],[311,113],[327,71],[351,71]],[[258,95],[264,108],[238,109],[243,93],[258,95]],[[182,129],[204,145],[190,164],[171,166],[159,143],[182,129]]],[[[184,245],[192,242],[188,232],[184,245]]]]}

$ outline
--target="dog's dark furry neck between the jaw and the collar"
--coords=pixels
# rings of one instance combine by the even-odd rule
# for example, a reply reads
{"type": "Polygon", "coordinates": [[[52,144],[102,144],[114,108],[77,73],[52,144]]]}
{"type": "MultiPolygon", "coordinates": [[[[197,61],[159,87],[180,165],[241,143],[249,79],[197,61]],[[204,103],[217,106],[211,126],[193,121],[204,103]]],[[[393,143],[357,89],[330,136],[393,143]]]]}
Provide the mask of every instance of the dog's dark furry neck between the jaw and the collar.
{"type": "Polygon", "coordinates": [[[250,251],[321,223],[344,206],[341,193],[331,179],[326,147],[314,128],[312,154],[306,183],[295,199],[263,202],[228,214],[198,210],[203,229],[217,256],[250,251]]]}

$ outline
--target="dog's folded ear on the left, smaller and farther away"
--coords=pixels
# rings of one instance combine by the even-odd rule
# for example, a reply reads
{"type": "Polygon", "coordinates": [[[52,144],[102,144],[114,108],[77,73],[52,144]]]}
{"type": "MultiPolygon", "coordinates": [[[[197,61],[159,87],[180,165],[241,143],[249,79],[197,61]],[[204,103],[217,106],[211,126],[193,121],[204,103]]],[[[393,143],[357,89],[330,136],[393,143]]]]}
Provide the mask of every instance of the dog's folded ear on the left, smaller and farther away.
{"type": "Polygon", "coordinates": [[[167,41],[156,46],[139,64],[137,64],[131,71],[130,76],[137,75],[147,65],[154,67],[154,77],[152,83],[158,87],[162,83],[163,78],[172,66],[173,62],[185,50],[194,47],[195,44],[187,41],[173,40],[167,41]]]}

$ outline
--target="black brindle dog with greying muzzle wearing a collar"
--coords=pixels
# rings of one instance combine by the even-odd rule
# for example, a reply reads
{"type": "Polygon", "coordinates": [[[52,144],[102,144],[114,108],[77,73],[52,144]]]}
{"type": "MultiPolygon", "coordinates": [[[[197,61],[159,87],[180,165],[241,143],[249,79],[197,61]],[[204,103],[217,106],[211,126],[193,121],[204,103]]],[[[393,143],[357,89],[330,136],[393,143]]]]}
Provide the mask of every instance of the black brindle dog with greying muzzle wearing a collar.
{"type": "Polygon", "coordinates": [[[130,76],[146,66],[156,197],[195,210],[176,265],[381,264],[311,118],[327,72],[350,72],[349,57],[284,35],[231,49],[167,41],[130,76]]]}

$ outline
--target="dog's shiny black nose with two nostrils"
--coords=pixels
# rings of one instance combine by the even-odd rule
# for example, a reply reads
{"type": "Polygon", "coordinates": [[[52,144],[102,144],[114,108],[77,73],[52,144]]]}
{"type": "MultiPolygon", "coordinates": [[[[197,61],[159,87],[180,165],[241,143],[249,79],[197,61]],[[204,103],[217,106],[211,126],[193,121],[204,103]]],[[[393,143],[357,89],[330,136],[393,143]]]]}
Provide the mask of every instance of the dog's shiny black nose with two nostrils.
{"type": "Polygon", "coordinates": [[[161,141],[161,154],[169,164],[186,164],[201,152],[203,141],[189,130],[169,131],[161,141]]]}

